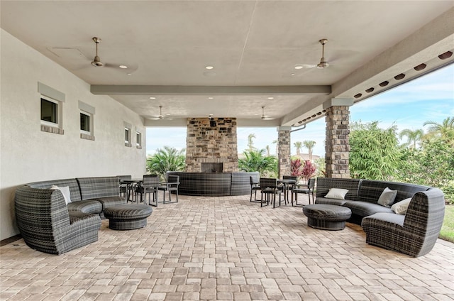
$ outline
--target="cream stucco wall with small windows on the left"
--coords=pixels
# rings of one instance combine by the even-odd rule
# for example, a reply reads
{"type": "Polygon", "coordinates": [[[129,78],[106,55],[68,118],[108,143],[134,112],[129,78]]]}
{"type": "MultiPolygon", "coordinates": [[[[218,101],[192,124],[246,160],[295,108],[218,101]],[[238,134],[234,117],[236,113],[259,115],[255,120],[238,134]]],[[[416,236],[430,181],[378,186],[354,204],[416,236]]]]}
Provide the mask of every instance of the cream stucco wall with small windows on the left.
{"type": "Polygon", "coordinates": [[[18,234],[13,195],[18,185],[40,180],[145,173],[143,119],[111,97],[90,93],[89,84],[1,30],[0,240],[18,234]],[[40,129],[38,82],[65,94],[64,135],[40,129]],[[79,101],[96,109],[95,141],[80,138],[79,101]],[[124,122],[132,125],[132,147],[124,122]],[[142,149],[135,147],[135,130],[142,149]]]}

